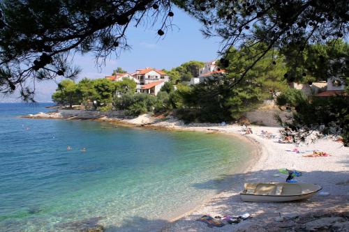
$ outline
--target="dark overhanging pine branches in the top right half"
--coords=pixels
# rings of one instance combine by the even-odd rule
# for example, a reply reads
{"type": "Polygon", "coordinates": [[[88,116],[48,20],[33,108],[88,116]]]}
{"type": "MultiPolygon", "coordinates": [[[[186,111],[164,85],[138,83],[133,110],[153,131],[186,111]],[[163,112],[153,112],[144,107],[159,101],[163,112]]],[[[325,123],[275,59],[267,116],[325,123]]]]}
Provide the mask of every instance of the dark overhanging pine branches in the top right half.
{"type": "MultiPolygon", "coordinates": [[[[236,58],[246,56],[254,62],[235,79],[235,84],[271,50],[292,47],[292,52],[302,56],[311,44],[336,41],[348,35],[348,2],[344,0],[178,0],[176,3],[205,25],[205,36],[222,38],[221,54],[229,52],[231,47],[260,50],[255,56],[240,54],[236,58]]],[[[228,66],[228,62],[224,64],[228,66]]]]}

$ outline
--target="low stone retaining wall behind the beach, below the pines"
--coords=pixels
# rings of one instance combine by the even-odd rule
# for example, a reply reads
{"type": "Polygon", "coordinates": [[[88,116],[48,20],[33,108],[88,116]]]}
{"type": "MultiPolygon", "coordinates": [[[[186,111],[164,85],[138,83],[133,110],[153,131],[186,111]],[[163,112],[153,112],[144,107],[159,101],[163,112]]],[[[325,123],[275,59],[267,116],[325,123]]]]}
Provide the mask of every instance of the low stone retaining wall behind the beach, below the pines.
{"type": "Polygon", "coordinates": [[[282,120],[285,121],[287,116],[291,116],[290,112],[280,111],[280,110],[267,110],[267,111],[249,111],[246,113],[246,118],[251,123],[266,125],[269,127],[279,127],[280,124],[276,121],[275,115],[281,116],[282,120]]]}

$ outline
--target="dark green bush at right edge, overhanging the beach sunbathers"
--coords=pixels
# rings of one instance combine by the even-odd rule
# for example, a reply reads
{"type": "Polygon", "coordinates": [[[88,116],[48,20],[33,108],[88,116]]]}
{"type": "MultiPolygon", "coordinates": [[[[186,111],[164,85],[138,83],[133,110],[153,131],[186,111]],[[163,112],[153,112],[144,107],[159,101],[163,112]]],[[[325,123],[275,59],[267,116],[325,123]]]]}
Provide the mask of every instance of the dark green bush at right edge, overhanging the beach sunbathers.
{"type": "Polygon", "coordinates": [[[341,135],[344,146],[349,146],[349,100],[348,96],[329,98],[299,98],[299,95],[278,97],[280,106],[292,107],[290,121],[279,121],[290,130],[283,134],[291,135],[295,141],[305,141],[307,137],[341,135]]]}

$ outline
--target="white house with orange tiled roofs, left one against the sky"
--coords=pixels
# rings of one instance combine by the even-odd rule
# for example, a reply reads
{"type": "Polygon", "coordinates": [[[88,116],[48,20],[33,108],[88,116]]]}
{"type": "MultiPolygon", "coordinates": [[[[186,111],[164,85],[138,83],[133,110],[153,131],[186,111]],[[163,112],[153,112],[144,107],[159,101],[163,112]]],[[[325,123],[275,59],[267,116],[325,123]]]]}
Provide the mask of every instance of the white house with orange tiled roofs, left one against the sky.
{"type": "Polygon", "coordinates": [[[140,85],[150,84],[151,82],[168,82],[170,78],[163,70],[158,70],[155,68],[144,68],[136,70],[133,74],[135,79],[138,79],[140,85]]]}

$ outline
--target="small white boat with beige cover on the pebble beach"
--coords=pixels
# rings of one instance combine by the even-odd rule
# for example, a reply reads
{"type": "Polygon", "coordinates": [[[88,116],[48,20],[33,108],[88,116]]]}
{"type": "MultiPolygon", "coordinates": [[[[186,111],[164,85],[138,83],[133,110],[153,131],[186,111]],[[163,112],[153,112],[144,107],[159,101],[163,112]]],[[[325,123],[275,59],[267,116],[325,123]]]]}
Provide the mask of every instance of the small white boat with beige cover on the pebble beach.
{"type": "Polygon", "coordinates": [[[283,202],[309,199],[322,189],[305,183],[245,183],[242,201],[283,202]]]}

